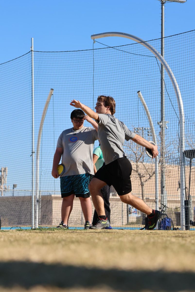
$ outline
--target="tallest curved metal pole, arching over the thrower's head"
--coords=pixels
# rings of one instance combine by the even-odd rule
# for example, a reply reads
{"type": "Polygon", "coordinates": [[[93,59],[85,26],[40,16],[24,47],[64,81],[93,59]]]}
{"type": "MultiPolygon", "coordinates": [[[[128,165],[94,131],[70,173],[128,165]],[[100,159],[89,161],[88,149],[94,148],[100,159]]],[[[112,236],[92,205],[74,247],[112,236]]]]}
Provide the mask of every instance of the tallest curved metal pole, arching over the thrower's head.
{"type": "Polygon", "coordinates": [[[177,97],[177,104],[179,108],[179,118],[180,118],[180,145],[179,145],[179,151],[180,151],[180,201],[181,201],[181,230],[185,230],[185,210],[184,210],[184,197],[185,197],[185,174],[184,174],[184,167],[185,167],[185,156],[184,156],[184,108],[183,108],[183,102],[182,102],[182,96],[180,93],[180,88],[177,84],[177,80],[175,79],[175,76],[173,72],[171,71],[168,63],[166,60],[161,56],[161,54],[156,51],[154,47],[152,47],[150,44],[148,44],[146,41],[140,39],[137,36],[134,36],[132,34],[126,34],[123,32],[103,32],[101,34],[93,34],[91,35],[91,39],[100,39],[107,36],[120,36],[127,39],[131,39],[133,41],[136,41],[137,43],[140,43],[142,46],[146,47],[149,51],[151,51],[156,58],[159,59],[163,67],[166,69],[166,72],[173,84],[173,88],[175,90],[175,94],[177,97]]]}

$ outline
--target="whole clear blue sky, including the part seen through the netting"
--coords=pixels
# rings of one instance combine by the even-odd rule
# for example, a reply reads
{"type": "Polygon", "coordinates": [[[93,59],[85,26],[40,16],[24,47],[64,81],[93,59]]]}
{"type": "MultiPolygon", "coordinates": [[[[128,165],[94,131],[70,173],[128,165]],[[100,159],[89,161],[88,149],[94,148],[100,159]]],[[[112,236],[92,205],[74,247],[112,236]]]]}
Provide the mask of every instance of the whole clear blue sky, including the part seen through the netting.
{"type": "MultiPolygon", "coordinates": [[[[129,34],[133,34],[138,36],[144,40],[157,39],[161,37],[161,3],[158,0],[34,0],[34,1],[0,1],[0,11],[1,11],[1,41],[0,41],[0,63],[7,62],[14,58],[17,58],[28,51],[30,51],[31,46],[31,37],[34,38],[34,51],[74,51],[74,50],[85,50],[93,48],[93,41],[91,40],[91,34],[97,34],[101,32],[126,32],[129,34]],[[121,6],[119,6],[119,4],[121,6]]],[[[184,4],[179,3],[170,3],[167,2],[165,4],[165,36],[170,36],[173,34],[179,34],[182,32],[190,31],[195,29],[194,23],[194,11],[195,11],[195,0],[187,0],[184,4]]],[[[192,46],[190,44],[194,43],[194,39],[192,38],[193,34],[189,34],[189,38],[191,36],[188,48],[186,51],[182,47],[182,43],[174,43],[177,44],[177,51],[182,54],[182,49],[184,52],[187,52],[184,55],[183,59],[178,60],[178,68],[177,62],[175,62],[175,56],[172,58],[172,51],[169,54],[170,64],[173,64],[174,71],[177,74],[178,81],[181,85],[182,96],[184,98],[184,106],[186,109],[186,116],[189,115],[190,121],[193,119],[194,115],[191,114],[194,111],[194,99],[189,99],[189,97],[193,96],[194,90],[194,70],[191,69],[194,67],[194,61],[191,64],[188,63],[189,60],[193,60],[194,51],[192,50],[192,46]],[[188,58],[188,59],[187,59],[188,58]],[[191,65],[191,66],[189,66],[191,65]],[[181,74],[180,74],[181,72],[181,74]],[[188,84],[189,86],[186,86],[188,84]]],[[[187,38],[187,36],[186,36],[187,38]]],[[[179,39],[179,38],[178,38],[179,39]]],[[[110,37],[98,40],[104,44],[109,46],[119,46],[124,44],[132,43],[131,40],[119,38],[119,37],[110,37]]],[[[174,41],[174,38],[172,38],[174,41]]],[[[176,38],[175,38],[175,41],[176,38]]],[[[159,41],[156,41],[153,45],[156,48],[156,44],[160,44],[159,41]]],[[[169,48],[171,44],[171,38],[168,41],[169,48]]],[[[176,45],[175,45],[176,46],[176,45]]],[[[95,48],[100,48],[102,45],[95,44],[95,48]]],[[[159,48],[159,47],[158,47],[159,48]]],[[[175,48],[175,47],[174,47],[175,48]]],[[[133,48],[132,48],[133,49],[133,48]]],[[[134,48],[136,49],[136,48],[134,48]]],[[[139,52],[142,52],[142,49],[139,49],[139,52]]],[[[100,50],[101,51],[101,50],[100,50]]],[[[110,50],[108,50],[110,51],[110,50]]],[[[112,50],[114,51],[114,50],[112,50]]],[[[137,52],[137,51],[136,51],[137,52]]],[[[92,54],[92,52],[82,52],[81,55],[92,54]]],[[[175,52],[177,53],[177,52],[175,52]]],[[[96,51],[96,62],[95,62],[95,72],[98,72],[98,68],[102,68],[101,64],[98,67],[98,60],[102,58],[98,50],[96,51]],[[99,55],[98,55],[99,54],[99,55]]],[[[59,180],[56,181],[51,178],[51,168],[53,161],[53,154],[55,152],[55,145],[58,139],[59,134],[65,128],[69,128],[72,124],[63,124],[59,123],[59,112],[63,112],[65,110],[65,114],[68,117],[67,121],[70,123],[69,114],[73,110],[69,106],[69,101],[72,97],[81,98],[82,102],[85,102],[86,98],[91,107],[94,106],[95,102],[93,102],[93,70],[92,70],[92,55],[88,55],[88,62],[86,62],[86,66],[83,67],[83,70],[78,70],[75,72],[75,76],[77,78],[71,78],[72,67],[70,69],[70,64],[67,62],[68,70],[65,72],[65,66],[62,66],[60,61],[58,60],[55,63],[55,70],[52,69],[51,74],[50,71],[50,58],[49,54],[47,59],[42,58],[41,64],[39,64],[39,55],[43,56],[44,54],[36,53],[36,66],[35,67],[35,100],[36,100],[36,114],[35,114],[35,137],[38,134],[39,121],[41,119],[42,110],[44,107],[44,102],[46,100],[48,92],[45,91],[45,88],[54,88],[54,96],[50,103],[49,110],[47,112],[46,124],[44,135],[47,135],[47,131],[50,131],[51,135],[49,139],[43,141],[43,158],[42,158],[42,166],[40,166],[40,173],[42,175],[41,186],[46,183],[47,186],[44,186],[45,189],[52,190],[53,184],[55,186],[58,184],[58,187],[55,187],[59,190],[59,180]],[[46,66],[44,66],[44,62],[46,66]],[[40,65],[40,68],[39,68],[40,65]],[[42,66],[42,67],[41,67],[42,66]],[[61,67],[62,66],[62,67],[61,67]],[[39,69],[41,70],[41,77],[39,76],[39,69]],[[58,70],[59,69],[59,70],[58,70]],[[63,74],[61,72],[63,71],[63,74]],[[49,74],[48,74],[49,72],[49,74]],[[54,72],[56,74],[54,74],[54,72]],[[83,72],[85,72],[83,74],[83,72]],[[80,75],[79,75],[80,74],[80,75]],[[64,82],[64,79],[67,78],[67,84],[64,82]],[[89,78],[89,80],[87,79],[89,78]],[[44,82],[42,80],[44,79],[44,82]],[[87,82],[86,82],[87,80],[87,82]],[[43,85],[44,84],[44,85],[43,85]],[[78,86],[76,86],[78,85],[78,86]],[[68,97],[68,106],[63,102],[67,102],[68,97]],[[61,98],[61,99],[60,99],[61,98]],[[55,102],[55,111],[53,110],[53,101],[55,102]],[[50,115],[49,115],[50,113],[50,115]],[[53,114],[54,113],[54,114],[53,114]],[[55,114],[56,113],[56,114],[55,114]],[[55,116],[55,126],[54,126],[54,117],[55,116]],[[48,127],[48,128],[47,128],[48,127]],[[48,130],[49,129],[49,130],[48,130]],[[51,137],[50,137],[51,136],[51,137]],[[44,144],[45,143],[45,144],[44,144]],[[49,145],[49,146],[48,146],[49,145]],[[45,147],[45,148],[44,148],[45,147]],[[49,148],[46,148],[49,147],[49,148]],[[44,151],[45,150],[45,151],[44,151]],[[49,153],[44,156],[44,153],[49,153]],[[45,159],[45,160],[44,160],[45,159]],[[47,164],[45,161],[47,160],[47,164]],[[48,162],[49,161],[49,162],[48,162]],[[55,183],[54,183],[55,181],[55,183]]],[[[55,55],[52,58],[55,58],[55,55]]],[[[74,55],[74,54],[64,54],[64,60],[68,60],[65,58],[65,55],[74,55]]],[[[168,54],[167,54],[168,55],[168,54]]],[[[114,53],[113,53],[114,56],[114,53]]],[[[153,70],[150,71],[149,66],[145,63],[144,59],[144,69],[139,66],[135,66],[138,64],[138,57],[133,57],[133,62],[130,63],[130,59],[127,64],[130,64],[128,69],[125,67],[125,58],[127,56],[123,56],[123,62],[120,64],[119,73],[114,73],[112,69],[112,64],[110,61],[105,62],[104,66],[109,66],[109,75],[107,77],[107,72],[105,70],[104,74],[96,75],[96,83],[95,83],[95,96],[99,93],[110,94],[112,95],[116,101],[120,101],[120,94],[123,92],[124,97],[128,97],[128,102],[118,102],[117,103],[117,115],[116,117],[120,118],[124,121],[130,128],[133,126],[145,126],[145,124],[140,124],[141,115],[144,115],[144,111],[142,110],[140,104],[137,102],[137,90],[141,90],[144,94],[146,100],[151,100],[151,105],[156,102],[156,96],[158,97],[158,106],[160,107],[159,102],[159,92],[160,92],[160,72],[159,67],[155,64],[153,70]],[[136,63],[137,62],[137,63],[136,63]],[[124,72],[123,72],[124,68],[124,72]],[[141,74],[139,71],[141,68],[141,74]],[[136,71],[135,71],[136,69],[136,71]],[[156,70],[156,71],[155,71],[156,70]],[[123,74],[120,75],[120,72],[123,74]],[[112,74],[112,75],[111,75],[112,74]],[[118,75],[117,75],[118,74],[118,75]],[[128,77],[125,75],[128,74],[128,77]],[[112,76],[112,77],[110,77],[112,76]],[[152,76],[152,77],[150,77],[152,76]],[[98,78],[97,78],[98,77],[98,78]],[[131,77],[131,78],[130,78],[131,77]],[[154,77],[154,78],[153,78],[154,77]],[[104,80],[104,82],[102,82],[104,80]],[[135,82],[136,81],[136,82],[135,82]],[[154,90],[153,90],[154,88],[154,90]],[[133,104],[134,111],[137,114],[130,115],[126,112],[126,107],[130,110],[132,109],[131,104],[133,104]],[[125,109],[125,110],[124,110],[125,109]]],[[[106,58],[106,55],[103,56],[106,58]]],[[[114,58],[114,57],[113,57],[114,58]]],[[[116,57],[117,58],[117,57],[116,57]]],[[[77,63],[75,62],[85,62],[85,59],[79,54],[76,53],[76,56],[72,56],[72,62],[76,68],[77,63]],[[77,56],[78,55],[78,56],[77,56]],[[73,59],[78,58],[78,59],[73,59]],[[80,59],[79,59],[80,58],[80,59]],[[76,65],[75,65],[76,64],[76,65]]],[[[102,60],[102,59],[101,59],[102,60]]],[[[149,60],[149,59],[148,59],[149,60]]],[[[148,61],[149,62],[149,61],[148,61]]],[[[151,64],[153,61],[151,61],[151,64]]],[[[79,63],[80,64],[80,63],[79,63]]],[[[117,64],[117,60],[115,63],[117,64]]],[[[14,62],[9,62],[5,65],[1,65],[1,74],[0,79],[2,81],[1,84],[1,109],[2,109],[2,133],[3,138],[1,139],[2,146],[0,153],[0,161],[1,166],[8,167],[8,182],[7,185],[12,185],[16,183],[18,185],[18,189],[30,189],[31,181],[29,179],[31,173],[31,71],[30,71],[30,55],[26,55],[14,62]],[[6,73],[4,71],[6,68],[6,73]],[[23,70],[24,68],[24,70],[23,70]],[[3,81],[4,80],[4,81],[3,81]],[[4,82],[4,83],[3,83],[4,82]],[[15,88],[18,88],[15,90],[15,88]],[[16,103],[13,102],[16,101],[16,103]],[[21,103],[20,103],[21,101],[21,103]],[[4,109],[3,107],[4,106],[4,109]],[[29,119],[29,120],[28,120],[29,119]],[[20,123],[19,123],[20,122],[20,123]],[[19,124],[19,126],[18,126],[19,124]],[[16,133],[15,139],[13,139],[13,133],[16,133]],[[5,137],[5,138],[4,138],[5,137]],[[21,153],[18,152],[19,148],[22,148],[23,141],[25,139],[28,141],[28,145],[25,145],[25,150],[21,153]],[[10,143],[10,140],[13,140],[14,143],[10,143]],[[8,141],[8,142],[4,142],[8,141]],[[10,151],[8,151],[8,146],[10,147],[10,151]],[[11,153],[11,155],[10,155],[11,153]],[[17,157],[13,161],[13,157],[17,157]],[[25,173],[20,173],[18,171],[18,166],[23,165],[28,166],[28,171],[25,173]]],[[[72,66],[72,65],[71,65],[72,66]]],[[[152,66],[152,65],[151,65],[152,66]]],[[[66,68],[67,68],[66,67],[66,68]]],[[[168,88],[168,93],[172,98],[172,102],[175,105],[175,109],[177,110],[177,101],[175,99],[175,93],[173,92],[173,86],[169,86],[169,82],[166,79],[166,85],[168,88]]],[[[169,109],[171,109],[172,105],[168,104],[168,110],[166,111],[166,120],[170,121],[168,125],[168,131],[172,131],[171,129],[171,121],[172,117],[170,117],[170,113],[172,113],[169,109]]],[[[154,107],[152,106],[152,110],[154,107]]],[[[156,110],[156,108],[154,109],[156,110]]],[[[152,114],[153,112],[151,112],[152,114]]],[[[158,111],[159,115],[160,111],[158,111]]],[[[61,114],[62,115],[62,114],[61,114]]],[[[158,117],[156,116],[156,119],[158,117]]],[[[145,118],[144,122],[145,122],[145,118]]],[[[63,119],[65,121],[66,119],[63,119]]],[[[158,118],[160,120],[160,117],[158,118]]],[[[194,122],[193,122],[194,123],[194,122]]],[[[146,121],[147,125],[147,121],[146,121]]],[[[191,124],[192,125],[192,124],[191,124]]],[[[178,131],[178,123],[174,125],[175,131],[178,131]]],[[[157,126],[157,133],[159,132],[159,126],[157,126]]],[[[190,130],[190,128],[189,128],[190,130]]],[[[171,136],[172,137],[172,136],[171,136]]],[[[36,139],[36,138],[35,138],[36,139]]],[[[41,145],[42,147],[42,145],[41,145]]],[[[36,142],[35,142],[36,148],[36,142]]],[[[175,148],[176,149],[176,148],[175,148]]],[[[177,147],[178,149],[178,147],[177,147]]],[[[176,149],[176,150],[177,150],[176,149]]]]}

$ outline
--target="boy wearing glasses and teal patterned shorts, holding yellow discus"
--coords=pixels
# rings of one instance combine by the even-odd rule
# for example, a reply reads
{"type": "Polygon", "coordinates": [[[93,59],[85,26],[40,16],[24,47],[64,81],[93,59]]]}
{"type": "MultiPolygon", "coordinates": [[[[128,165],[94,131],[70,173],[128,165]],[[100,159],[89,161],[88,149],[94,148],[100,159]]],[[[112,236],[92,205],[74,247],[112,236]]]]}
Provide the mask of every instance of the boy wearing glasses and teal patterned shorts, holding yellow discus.
{"type": "Polygon", "coordinates": [[[65,172],[60,176],[62,200],[61,223],[57,228],[68,228],[68,219],[73,207],[74,197],[79,197],[85,218],[85,229],[91,226],[92,205],[88,184],[94,175],[93,144],[98,140],[97,123],[86,116],[81,109],[71,113],[73,127],[63,131],[58,138],[53,158],[52,176],[58,178],[58,164],[62,157],[65,172]],[[92,127],[84,127],[84,120],[92,127]]]}

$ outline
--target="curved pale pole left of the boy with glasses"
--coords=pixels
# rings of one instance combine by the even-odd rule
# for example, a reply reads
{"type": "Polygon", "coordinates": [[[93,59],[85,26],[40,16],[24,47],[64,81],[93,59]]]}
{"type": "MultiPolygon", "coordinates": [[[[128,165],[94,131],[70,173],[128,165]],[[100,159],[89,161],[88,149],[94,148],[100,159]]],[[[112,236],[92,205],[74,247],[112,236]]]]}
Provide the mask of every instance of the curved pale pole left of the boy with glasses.
{"type": "Polygon", "coordinates": [[[39,153],[40,153],[40,144],[41,144],[41,135],[42,135],[42,129],[43,129],[43,122],[46,116],[46,112],[49,106],[49,102],[51,99],[51,96],[53,94],[53,88],[51,88],[50,93],[47,97],[42,117],[41,117],[41,122],[39,126],[39,134],[38,134],[38,139],[37,139],[37,144],[36,144],[36,177],[35,177],[35,206],[34,206],[34,228],[39,227],[39,153]]]}

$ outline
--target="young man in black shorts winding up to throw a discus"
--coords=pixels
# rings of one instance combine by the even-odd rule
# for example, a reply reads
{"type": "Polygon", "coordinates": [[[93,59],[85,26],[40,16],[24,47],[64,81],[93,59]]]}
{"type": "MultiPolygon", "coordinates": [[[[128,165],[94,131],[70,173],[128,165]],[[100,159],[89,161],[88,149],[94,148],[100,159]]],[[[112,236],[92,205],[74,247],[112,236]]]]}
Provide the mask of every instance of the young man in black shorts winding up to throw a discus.
{"type": "Polygon", "coordinates": [[[90,229],[104,229],[110,225],[104,210],[104,201],[101,188],[105,185],[113,185],[122,202],[133,206],[147,215],[147,230],[153,230],[160,218],[160,211],[152,210],[144,201],[131,194],[130,175],[132,166],[123,150],[125,140],[147,147],[152,150],[152,158],[159,152],[155,145],[152,145],[144,138],[130,131],[123,122],[114,117],[115,101],[111,96],[100,95],[97,98],[94,112],[83,105],[79,100],[72,100],[70,105],[80,108],[98,124],[98,137],[101,144],[105,165],[94,175],[89,184],[90,194],[98,214],[98,221],[90,229]]]}

